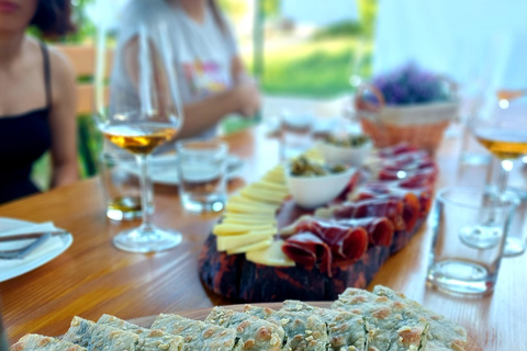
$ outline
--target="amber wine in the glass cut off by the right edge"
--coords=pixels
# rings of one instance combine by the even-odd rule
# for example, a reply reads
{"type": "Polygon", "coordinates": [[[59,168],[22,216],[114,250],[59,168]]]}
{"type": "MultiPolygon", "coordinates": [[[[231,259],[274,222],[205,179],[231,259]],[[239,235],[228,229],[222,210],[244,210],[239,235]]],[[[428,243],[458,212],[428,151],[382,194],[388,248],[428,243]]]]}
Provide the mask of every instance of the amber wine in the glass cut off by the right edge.
{"type": "Polygon", "coordinates": [[[476,131],[478,141],[500,159],[516,159],[527,155],[527,132],[487,128],[476,131]]]}

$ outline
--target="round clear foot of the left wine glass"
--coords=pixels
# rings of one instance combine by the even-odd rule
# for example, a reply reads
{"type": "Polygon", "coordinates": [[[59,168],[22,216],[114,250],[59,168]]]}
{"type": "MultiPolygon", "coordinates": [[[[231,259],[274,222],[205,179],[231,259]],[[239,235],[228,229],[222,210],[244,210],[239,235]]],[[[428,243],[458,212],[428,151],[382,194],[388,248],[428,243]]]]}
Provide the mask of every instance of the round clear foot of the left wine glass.
{"type": "Polygon", "coordinates": [[[113,245],[128,252],[159,252],[177,247],[182,238],[177,230],[141,226],[117,234],[113,238],[113,245]]]}

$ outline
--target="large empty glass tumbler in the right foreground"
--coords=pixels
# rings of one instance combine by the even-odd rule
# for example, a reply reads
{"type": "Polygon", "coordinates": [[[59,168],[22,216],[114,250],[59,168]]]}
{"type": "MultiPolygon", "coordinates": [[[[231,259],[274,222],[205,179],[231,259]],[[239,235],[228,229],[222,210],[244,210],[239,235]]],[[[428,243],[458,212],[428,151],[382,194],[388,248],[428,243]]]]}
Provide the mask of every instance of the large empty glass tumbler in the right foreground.
{"type": "Polygon", "coordinates": [[[494,288],[515,204],[489,199],[484,189],[437,193],[428,281],[438,290],[484,294],[494,288]]]}

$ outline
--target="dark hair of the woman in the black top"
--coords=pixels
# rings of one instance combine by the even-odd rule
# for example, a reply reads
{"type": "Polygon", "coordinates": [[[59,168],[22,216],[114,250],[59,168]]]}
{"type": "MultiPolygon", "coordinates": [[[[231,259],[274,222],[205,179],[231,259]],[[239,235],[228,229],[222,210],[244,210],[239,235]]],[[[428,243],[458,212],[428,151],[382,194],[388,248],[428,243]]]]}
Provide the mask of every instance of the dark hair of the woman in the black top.
{"type": "Polygon", "coordinates": [[[38,0],[35,15],[30,25],[36,26],[47,37],[63,36],[75,32],[70,0],[38,0]]]}

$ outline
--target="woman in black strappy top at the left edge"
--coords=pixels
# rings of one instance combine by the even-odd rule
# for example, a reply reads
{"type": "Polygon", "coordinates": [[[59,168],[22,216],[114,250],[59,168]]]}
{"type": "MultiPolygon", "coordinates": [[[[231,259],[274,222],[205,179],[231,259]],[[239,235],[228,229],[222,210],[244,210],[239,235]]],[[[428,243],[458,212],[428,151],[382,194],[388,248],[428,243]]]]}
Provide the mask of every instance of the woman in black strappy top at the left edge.
{"type": "Polygon", "coordinates": [[[72,30],[69,0],[0,0],[0,203],[37,193],[33,163],[52,151],[52,188],[77,180],[75,75],[60,53],[27,36],[72,30]]]}

